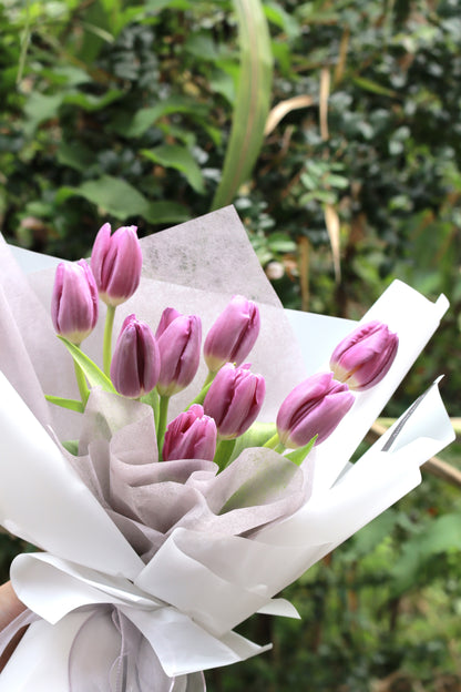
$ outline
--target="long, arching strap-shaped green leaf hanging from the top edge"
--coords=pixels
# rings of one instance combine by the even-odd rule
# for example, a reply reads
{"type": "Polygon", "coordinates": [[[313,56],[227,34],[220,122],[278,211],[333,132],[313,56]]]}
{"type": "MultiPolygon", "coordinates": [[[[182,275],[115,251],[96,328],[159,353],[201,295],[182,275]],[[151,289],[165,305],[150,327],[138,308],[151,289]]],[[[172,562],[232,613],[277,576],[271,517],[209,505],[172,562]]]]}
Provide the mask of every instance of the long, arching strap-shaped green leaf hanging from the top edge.
{"type": "Polygon", "coordinates": [[[269,111],[273,54],[260,0],[234,0],[237,13],[240,73],[223,175],[212,210],[229,204],[258,157],[269,111]]]}

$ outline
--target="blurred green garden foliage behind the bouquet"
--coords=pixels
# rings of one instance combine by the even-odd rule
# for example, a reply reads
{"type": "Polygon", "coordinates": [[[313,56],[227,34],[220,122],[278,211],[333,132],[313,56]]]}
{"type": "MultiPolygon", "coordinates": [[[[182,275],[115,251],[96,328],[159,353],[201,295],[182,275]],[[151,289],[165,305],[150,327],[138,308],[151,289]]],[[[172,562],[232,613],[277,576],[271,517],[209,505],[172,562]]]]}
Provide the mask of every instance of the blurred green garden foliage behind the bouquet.
{"type": "MultiPolygon", "coordinates": [[[[396,277],[444,292],[388,414],[443,370],[460,416],[460,10],[3,0],[2,233],[79,258],[101,220],[144,235],[234,202],[287,307],[359,317],[396,277]]],[[[288,590],[303,624],[246,624],[274,653],[209,689],[460,690],[460,519],[427,479],[288,590]]]]}

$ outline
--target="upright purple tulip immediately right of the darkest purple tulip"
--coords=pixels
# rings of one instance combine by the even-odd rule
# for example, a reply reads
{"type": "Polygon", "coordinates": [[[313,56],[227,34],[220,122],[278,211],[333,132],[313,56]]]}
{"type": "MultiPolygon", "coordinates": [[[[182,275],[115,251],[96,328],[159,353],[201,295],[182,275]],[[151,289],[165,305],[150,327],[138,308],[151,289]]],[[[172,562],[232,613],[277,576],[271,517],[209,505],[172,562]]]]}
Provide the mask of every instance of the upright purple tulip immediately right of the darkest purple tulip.
{"type": "Polygon", "coordinates": [[[158,394],[172,396],[192,383],[198,369],[202,322],[167,307],[156,330],[160,350],[158,394]]]}

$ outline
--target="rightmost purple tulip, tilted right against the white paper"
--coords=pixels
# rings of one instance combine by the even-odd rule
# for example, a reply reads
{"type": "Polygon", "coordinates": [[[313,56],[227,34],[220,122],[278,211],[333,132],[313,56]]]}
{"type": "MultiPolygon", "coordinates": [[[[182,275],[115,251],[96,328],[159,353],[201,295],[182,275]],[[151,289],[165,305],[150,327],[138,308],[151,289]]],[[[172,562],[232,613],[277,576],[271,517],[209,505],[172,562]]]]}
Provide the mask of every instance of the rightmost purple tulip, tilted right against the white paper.
{"type": "Polygon", "coordinates": [[[339,381],[362,391],[377,385],[393,363],[399,345],[397,334],[381,322],[357,327],[335,348],[330,368],[339,381]]]}

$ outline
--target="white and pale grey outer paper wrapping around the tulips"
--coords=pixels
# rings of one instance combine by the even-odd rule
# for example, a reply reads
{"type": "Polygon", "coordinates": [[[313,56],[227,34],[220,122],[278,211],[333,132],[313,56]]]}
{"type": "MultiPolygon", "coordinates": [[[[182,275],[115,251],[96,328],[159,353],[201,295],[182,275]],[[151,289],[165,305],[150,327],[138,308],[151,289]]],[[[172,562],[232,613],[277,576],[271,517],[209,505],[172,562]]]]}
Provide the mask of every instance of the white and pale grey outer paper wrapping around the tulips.
{"type": "MultiPolygon", "coordinates": [[[[249,359],[267,379],[262,420],[275,419],[291,387],[307,370],[325,367],[350,330],[346,320],[280,309],[232,207],[145,238],[143,255],[141,289],[117,311],[117,325],[131,312],[155,325],[172,305],[199,314],[206,333],[235,293],[258,301],[263,329],[249,359]]],[[[420,465],[453,439],[432,386],[404,425],[397,423],[348,466],[448,307],[443,296],[432,304],[396,282],[363,320],[381,319],[398,332],[397,359],[385,380],[359,394],[334,435],[309,455],[307,501],[249,538],[178,527],[144,563],[54,441],[53,435],[73,437],[80,423],[78,416],[69,423],[66,411],[51,410],[43,399],[43,390],[76,396],[72,364],[48,315],[50,271],[25,282],[4,244],[0,267],[0,522],[43,551],[19,556],[12,564],[14,589],[39,619],[0,675],[0,692],[69,689],[69,659],[76,650],[76,660],[85,663],[75,690],[112,690],[112,679],[101,682],[99,675],[120,649],[114,613],[119,629],[122,622],[143,634],[151,674],[156,675],[155,665],[166,674],[156,691],[202,690],[198,671],[265,650],[233,632],[239,622],[256,611],[296,617],[274,596],[417,486],[420,465]]],[[[85,347],[95,359],[100,339],[93,334],[85,347]]],[[[204,375],[177,397],[172,416],[204,375]]],[[[148,689],[142,684],[133,689],[148,689]]]]}

